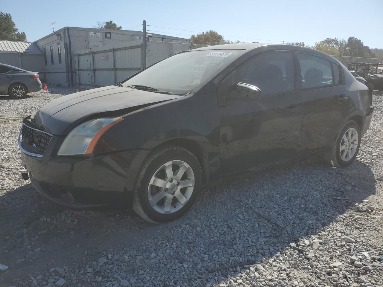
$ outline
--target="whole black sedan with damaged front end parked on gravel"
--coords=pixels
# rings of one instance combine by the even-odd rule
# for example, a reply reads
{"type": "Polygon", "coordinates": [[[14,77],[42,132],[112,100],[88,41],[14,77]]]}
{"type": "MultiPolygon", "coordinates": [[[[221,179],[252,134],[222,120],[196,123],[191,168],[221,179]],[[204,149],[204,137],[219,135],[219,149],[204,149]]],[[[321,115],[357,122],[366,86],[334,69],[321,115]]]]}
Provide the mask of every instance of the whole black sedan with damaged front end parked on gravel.
{"type": "Polygon", "coordinates": [[[52,201],[131,204],[160,223],[228,174],[314,154],[350,165],[371,105],[367,86],[323,52],[228,44],[55,99],[24,120],[19,146],[33,186],[52,201]]]}

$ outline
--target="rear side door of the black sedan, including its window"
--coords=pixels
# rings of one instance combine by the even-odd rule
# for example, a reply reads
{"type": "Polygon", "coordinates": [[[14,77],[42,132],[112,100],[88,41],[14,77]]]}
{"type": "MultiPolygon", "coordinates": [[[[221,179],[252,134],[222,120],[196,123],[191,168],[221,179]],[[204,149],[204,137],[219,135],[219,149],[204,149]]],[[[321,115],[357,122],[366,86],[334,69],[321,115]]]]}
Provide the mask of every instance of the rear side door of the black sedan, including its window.
{"type": "Polygon", "coordinates": [[[349,114],[342,69],[317,55],[297,53],[300,67],[303,123],[299,153],[328,147],[349,114]]]}

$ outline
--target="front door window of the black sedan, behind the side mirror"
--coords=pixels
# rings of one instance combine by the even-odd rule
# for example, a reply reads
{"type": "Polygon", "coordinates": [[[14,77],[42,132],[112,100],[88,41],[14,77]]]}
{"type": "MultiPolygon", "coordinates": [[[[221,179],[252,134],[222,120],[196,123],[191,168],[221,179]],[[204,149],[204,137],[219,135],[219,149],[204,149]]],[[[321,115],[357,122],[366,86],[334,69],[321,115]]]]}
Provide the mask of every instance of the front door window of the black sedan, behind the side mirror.
{"type": "Polygon", "coordinates": [[[293,91],[293,55],[284,51],[256,55],[232,71],[222,88],[227,90],[230,85],[240,82],[257,86],[262,96],[293,91]]]}

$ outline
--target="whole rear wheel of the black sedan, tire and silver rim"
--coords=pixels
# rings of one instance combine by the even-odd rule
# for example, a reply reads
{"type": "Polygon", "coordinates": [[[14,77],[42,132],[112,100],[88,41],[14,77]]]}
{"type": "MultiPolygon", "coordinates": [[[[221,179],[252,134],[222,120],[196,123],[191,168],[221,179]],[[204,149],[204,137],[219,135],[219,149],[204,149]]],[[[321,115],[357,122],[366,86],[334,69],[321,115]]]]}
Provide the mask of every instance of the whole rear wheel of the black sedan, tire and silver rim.
{"type": "Polygon", "coordinates": [[[324,160],[332,166],[344,168],[352,164],[360,147],[360,127],[355,121],[347,121],[331,145],[331,150],[324,153],[324,160]],[[347,135],[346,135],[347,132],[347,135]],[[349,134],[351,132],[351,134],[349,134]],[[350,139],[350,142],[348,141],[350,139]],[[358,142],[355,142],[355,141],[358,142]],[[340,150],[342,145],[342,152],[340,150]],[[349,152],[347,152],[349,151],[349,152]]]}

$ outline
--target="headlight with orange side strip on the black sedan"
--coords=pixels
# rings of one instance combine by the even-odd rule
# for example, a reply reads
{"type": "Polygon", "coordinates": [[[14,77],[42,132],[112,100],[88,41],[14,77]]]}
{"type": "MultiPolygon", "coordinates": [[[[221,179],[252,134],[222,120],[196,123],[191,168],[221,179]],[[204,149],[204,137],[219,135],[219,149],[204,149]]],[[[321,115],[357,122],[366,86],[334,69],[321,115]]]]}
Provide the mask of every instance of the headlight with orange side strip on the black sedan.
{"type": "Polygon", "coordinates": [[[88,155],[93,153],[98,139],[122,117],[93,119],[75,127],[65,138],[57,155],[88,155]]]}

